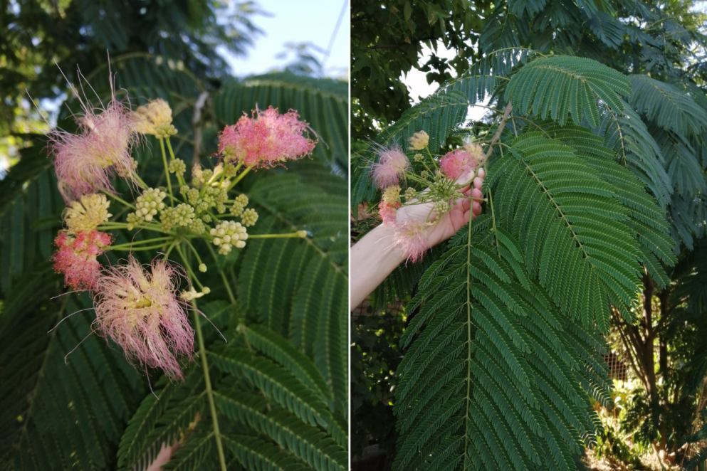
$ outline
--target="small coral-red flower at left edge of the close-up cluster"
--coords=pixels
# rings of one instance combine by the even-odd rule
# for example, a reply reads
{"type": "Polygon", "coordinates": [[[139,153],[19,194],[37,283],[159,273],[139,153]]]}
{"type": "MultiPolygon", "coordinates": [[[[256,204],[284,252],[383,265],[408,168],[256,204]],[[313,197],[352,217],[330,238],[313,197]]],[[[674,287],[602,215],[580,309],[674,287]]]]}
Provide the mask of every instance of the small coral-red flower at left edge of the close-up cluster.
{"type": "Polygon", "coordinates": [[[96,258],[111,242],[110,234],[100,231],[79,231],[75,237],[61,231],[54,239],[54,271],[63,273],[64,284],[74,290],[91,289],[100,275],[96,258]]]}

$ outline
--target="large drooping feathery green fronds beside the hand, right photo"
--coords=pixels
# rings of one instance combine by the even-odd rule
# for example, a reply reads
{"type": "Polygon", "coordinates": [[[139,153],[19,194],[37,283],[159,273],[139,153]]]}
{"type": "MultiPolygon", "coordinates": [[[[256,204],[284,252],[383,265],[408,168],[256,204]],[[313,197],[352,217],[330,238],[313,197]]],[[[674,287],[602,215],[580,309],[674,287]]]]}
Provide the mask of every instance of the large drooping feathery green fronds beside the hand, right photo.
{"type": "MultiPolygon", "coordinates": [[[[612,309],[632,322],[644,272],[666,283],[662,264],[675,262],[649,193],[669,194],[659,150],[642,123],[622,133],[636,116],[629,79],[568,56],[516,64],[483,89],[513,107],[488,165],[486,214],[451,239],[407,307],[397,470],[576,469],[601,429],[590,398],[612,404],[612,309]]],[[[478,96],[438,93],[464,107],[478,96]]],[[[411,115],[380,138],[419,124],[411,115]]],[[[427,126],[446,139],[455,125],[427,126]]]]}

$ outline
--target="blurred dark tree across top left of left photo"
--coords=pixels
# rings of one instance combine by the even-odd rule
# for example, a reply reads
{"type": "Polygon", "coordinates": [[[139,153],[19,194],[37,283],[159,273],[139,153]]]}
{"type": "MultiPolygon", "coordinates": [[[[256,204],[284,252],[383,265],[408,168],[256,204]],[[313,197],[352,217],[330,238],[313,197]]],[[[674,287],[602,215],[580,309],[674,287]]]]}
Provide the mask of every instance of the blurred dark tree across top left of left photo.
{"type": "Polygon", "coordinates": [[[11,1],[0,11],[0,139],[22,147],[15,140],[26,132],[22,124],[33,112],[28,95],[65,99],[66,81],[78,83],[78,70],[86,74],[105,65],[106,51],[153,55],[170,70],[179,65],[206,85],[218,83],[227,66],[216,47],[245,53],[261,33],[252,22],[261,13],[251,1],[231,6],[209,0],[11,1]],[[217,24],[216,17],[224,21],[217,24]]]}

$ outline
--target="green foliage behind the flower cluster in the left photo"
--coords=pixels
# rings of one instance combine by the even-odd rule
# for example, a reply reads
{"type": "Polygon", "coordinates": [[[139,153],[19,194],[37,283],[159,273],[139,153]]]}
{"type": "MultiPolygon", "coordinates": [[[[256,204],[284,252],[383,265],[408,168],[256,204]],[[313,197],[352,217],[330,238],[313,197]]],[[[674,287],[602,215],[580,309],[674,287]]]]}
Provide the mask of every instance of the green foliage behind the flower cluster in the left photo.
{"type": "MultiPolygon", "coordinates": [[[[0,181],[0,468],[144,470],[172,447],[165,469],[216,469],[219,434],[229,469],[345,469],[347,84],[291,73],[229,78],[214,48],[239,53],[256,38],[251,3],[96,5],[17,1],[2,11],[0,132],[16,154],[0,181]],[[185,162],[211,166],[219,129],[256,104],[295,108],[320,136],[312,159],[257,171],[239,186],[260,213],[256,232],[304,229],[310,237],[251,240],[228,257],[197,244],[209,265],[200,280],[211,287],[199,309],[228,342],[202,319],[206,342],[185,366],[184,383],[135,371],[119,347],[89,335],[90,297],[66,295],[48,261],[63,201],[23,89],[43,104],[66,100],[56,60],[77,85],[78,65],[105,100],[106,48],[120,97],[127,92],[134,106],[156,97],[170,103],[175,152],[185,162]],[[206,401],[204,355],[215,411],[206,401]]],[[[77,104],[66,105],[58,126],[73,129],[68,110],[77,104]]],[[[135,158],[145,181],[164,184],[156,146],[147,139],[135,158]]],[[[130,238],[117,235],[119,243],[130,238]]]]}

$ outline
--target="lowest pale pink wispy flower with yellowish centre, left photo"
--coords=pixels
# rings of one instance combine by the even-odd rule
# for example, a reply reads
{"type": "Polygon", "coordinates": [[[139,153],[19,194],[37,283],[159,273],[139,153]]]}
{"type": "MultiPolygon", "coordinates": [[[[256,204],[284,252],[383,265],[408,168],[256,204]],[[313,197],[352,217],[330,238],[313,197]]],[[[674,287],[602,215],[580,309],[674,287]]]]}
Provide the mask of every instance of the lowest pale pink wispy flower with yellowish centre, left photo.
{"type": "Polygon", "coordinates": [[[128,360],[161,368],[170,379],[184,379],[177,357],[191,361],[194,350],[180,276],[165,260],[152,260],[147,271],[130,255],[127,264],[105,270],[95,287],[98,332],[122,346],[128,360]]]}

